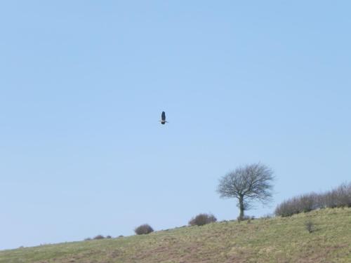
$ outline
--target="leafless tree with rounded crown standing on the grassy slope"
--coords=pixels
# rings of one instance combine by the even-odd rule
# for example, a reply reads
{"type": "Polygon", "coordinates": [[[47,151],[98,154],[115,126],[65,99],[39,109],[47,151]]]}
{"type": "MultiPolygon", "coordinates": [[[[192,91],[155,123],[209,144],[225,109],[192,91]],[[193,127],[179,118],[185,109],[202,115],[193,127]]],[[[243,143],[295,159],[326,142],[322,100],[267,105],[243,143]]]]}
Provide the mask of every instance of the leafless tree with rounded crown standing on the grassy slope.
{"type": "Polygon", "coordinates": [[[220,179],[218,193],[221,198],[237,198],[239,220],[244,219],[244,210],[249,210],[254,201],[266,204],[272,199],[273,171],[269,167],[253,163],[241,166],[220,179]]]}

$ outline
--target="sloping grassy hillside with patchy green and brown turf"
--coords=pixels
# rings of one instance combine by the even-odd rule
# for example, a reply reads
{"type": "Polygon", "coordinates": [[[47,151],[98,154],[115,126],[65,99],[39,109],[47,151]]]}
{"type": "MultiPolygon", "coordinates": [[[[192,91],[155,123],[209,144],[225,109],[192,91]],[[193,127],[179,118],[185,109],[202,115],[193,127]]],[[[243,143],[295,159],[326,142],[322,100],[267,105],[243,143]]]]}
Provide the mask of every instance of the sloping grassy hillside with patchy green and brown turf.
{"type": "Polygon", "coordinates": [[[0,262],[351,262],[351,208],[4,250],[0,262]]]}

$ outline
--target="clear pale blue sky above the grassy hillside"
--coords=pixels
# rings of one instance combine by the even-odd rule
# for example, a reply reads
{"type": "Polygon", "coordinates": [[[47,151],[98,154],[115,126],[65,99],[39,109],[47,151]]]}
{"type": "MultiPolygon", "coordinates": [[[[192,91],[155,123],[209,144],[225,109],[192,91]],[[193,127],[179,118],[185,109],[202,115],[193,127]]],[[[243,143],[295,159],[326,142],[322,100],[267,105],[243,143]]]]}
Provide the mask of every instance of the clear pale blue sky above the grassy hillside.
{"type": "Polygon", "coordinates": [[[0,249],[231,220],[351,178],[350,1],[1,1],[0,249]],[[169,123],[158,121],[165,111],[169,123]]]}

